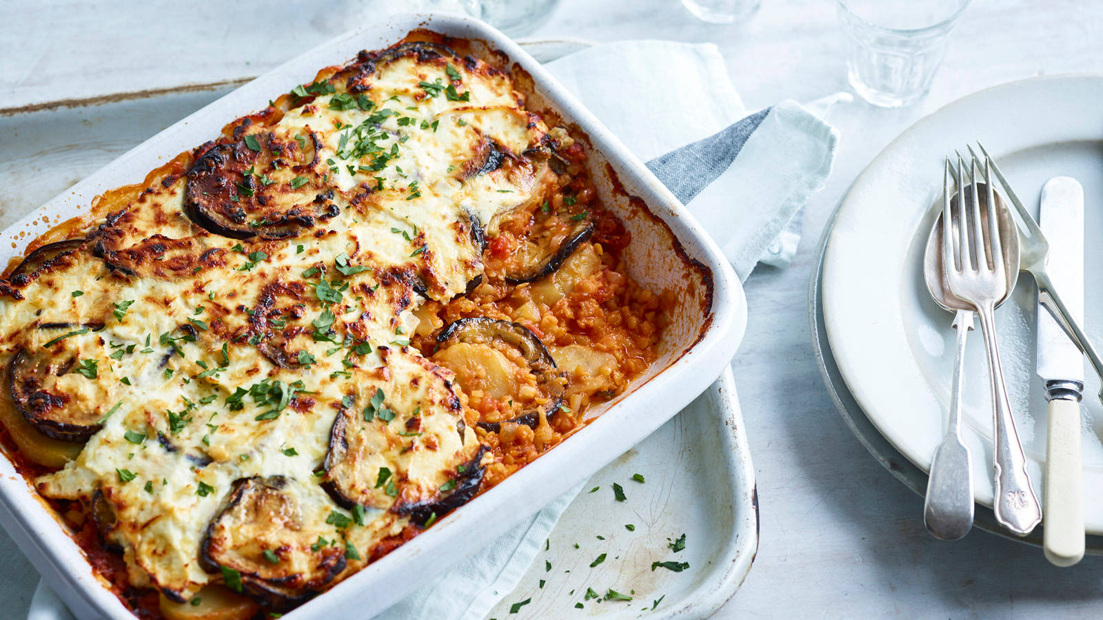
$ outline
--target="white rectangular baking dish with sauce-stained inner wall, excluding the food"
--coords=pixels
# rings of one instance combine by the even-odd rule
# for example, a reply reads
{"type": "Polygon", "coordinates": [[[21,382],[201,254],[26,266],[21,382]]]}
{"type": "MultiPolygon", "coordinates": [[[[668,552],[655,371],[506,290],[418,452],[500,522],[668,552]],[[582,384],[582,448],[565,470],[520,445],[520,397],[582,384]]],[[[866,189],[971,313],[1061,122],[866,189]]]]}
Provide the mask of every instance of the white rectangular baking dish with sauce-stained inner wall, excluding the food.
{"type": "MultiPolygon", "coordinates": [[[[532,76],[531,88],[523,88],[531,90],[532,108],[555,110],[589,136],[591,178],[606,205],[632,234],[625,250],[631,275],[653,289],[676,291],[679,306],[661,359],[625,394],[593,409],[591,424],[426,533],[287,614],[289,620],[347,614],[353,609],[356,617],[370,617],[485,546],[693,400],[727,366],[746,324],[742,287],[720,249],[643,163],[515,43],[482,22],[445,13],[381,18],[176,122],[0,233],[0,264],[21,255],[50,227],[87,213],[95,196],[140,182],[149,170],[211,139],[226,122],[309,83],[320,68],[343,64],[361,50],[386,47],[419,28],[500,50],[532,76]],[[646,207],[629,196],[642,199],[646,207]]],[[[0,524],[78,617],[131,618],[8,459],[0,459],[0,524]]]]}

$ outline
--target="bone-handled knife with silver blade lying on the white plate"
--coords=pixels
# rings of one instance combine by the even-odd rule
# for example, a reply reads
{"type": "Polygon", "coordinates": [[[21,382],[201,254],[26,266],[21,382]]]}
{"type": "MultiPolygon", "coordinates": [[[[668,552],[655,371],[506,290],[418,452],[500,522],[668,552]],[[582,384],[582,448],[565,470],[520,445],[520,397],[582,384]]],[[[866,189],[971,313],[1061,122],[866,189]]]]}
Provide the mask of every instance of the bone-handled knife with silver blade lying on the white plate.
{"type": "MultiPolygon", "coordinates": [[[[1084,320],[1084,190],[1071,177],[1054,177],[1041,190],[1038,225],[1050,240],[1046,270],[1073,319],[1084,320]]],[[[1045,293],[1042,293],[1045,295],[1045,293]]],[[[1049,402],[1042,546],[1057,566],[1084,556],[1080,397],[1084,359],[1043,306],[1038,306],[1038,375],[1049,402]]]]}

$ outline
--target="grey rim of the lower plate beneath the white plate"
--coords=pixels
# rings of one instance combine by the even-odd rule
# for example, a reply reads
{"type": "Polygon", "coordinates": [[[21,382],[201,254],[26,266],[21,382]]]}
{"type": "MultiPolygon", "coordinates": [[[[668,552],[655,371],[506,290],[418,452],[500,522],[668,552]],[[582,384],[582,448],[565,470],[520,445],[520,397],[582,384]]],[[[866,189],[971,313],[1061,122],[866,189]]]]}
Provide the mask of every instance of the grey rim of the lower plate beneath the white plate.
{"type": "MultiPolygon", "coordinates": [[[[844,194],[844,199],[845,196],[846,194],[844,194]]],[[[827,340],[827,330],[824,327],[823,313],[824,255],[827,252],[827,239],[831,237],[831,232],[835,226],[835,220],[838,216],[838,210],[842,204],[843,202],[839,201],[839,204],[835,206],[820,237],[815,254],[816,261],[812,267],[812,279],[808,281],[808,321],[812,327],[812,348],[815,351],[816,363],[820,366],[820,373],[823,375],[824,384],[827,386],[827,393],[831,395],[832,402],[835,403],[835,407],[843,416],[843,420],[850,427],[858,441],[897,480],[903,482],[906,487],[920,496],[925,496],[927,472],[915,467],[907,457],[901,455],[877,430],[874,423],[869,420],[866,413],[854,398],[850,389],[846,386],[846,382],[843,381],[843,375],[835,363],[835,357],[832,354],[831,344],[827,340]]],[[[1045,525],[1039,525],[1026,536],[1011,534],[996,522],[996,515],[990,507],[979,503],[975,504],[973,524],[985,532],[1036,547],[1041,546],[1042,532],[1045,531],[1045,525]]],[[[1090,555],[1103,555],[1103,536],[1086,535],[1085,547],[1085,553],[1090,555]]]]}

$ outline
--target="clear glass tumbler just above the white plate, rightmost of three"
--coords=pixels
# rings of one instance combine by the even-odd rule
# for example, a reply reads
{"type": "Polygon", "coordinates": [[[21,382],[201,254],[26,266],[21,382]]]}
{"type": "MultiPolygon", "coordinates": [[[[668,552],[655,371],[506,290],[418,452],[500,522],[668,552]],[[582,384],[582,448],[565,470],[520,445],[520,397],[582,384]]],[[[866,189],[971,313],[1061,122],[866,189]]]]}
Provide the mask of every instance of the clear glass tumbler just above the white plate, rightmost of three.
{"type": "Polygon", "coordinates": [[[876,106],[910,106],[931,89],[946,38],[970,0],[837,0],[850,86],[876,106]]]}

